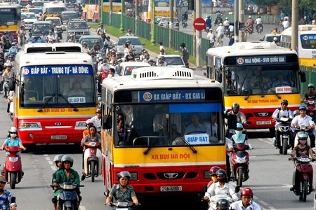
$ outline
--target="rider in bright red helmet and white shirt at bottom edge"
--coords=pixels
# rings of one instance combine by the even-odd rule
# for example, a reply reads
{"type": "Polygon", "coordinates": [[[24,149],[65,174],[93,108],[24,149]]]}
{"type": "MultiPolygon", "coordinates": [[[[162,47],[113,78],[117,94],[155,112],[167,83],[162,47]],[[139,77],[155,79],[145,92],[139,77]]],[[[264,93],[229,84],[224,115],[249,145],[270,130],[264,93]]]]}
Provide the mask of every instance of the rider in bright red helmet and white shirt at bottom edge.
{"type": "Polygon", "coordinates": [[[254,193],[252,193],[251,188],[242,189],[240,193],[240,200],[230,204],[230,209],[235,210],[261,210],[259,204],[253,200],[254,193]]]}

